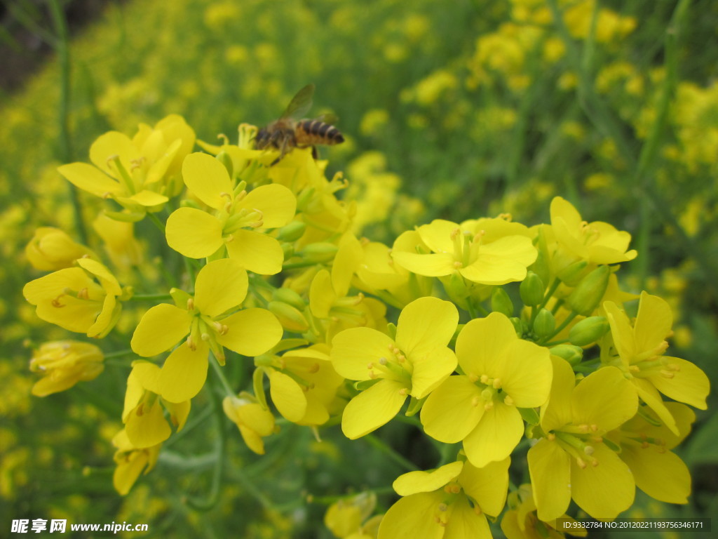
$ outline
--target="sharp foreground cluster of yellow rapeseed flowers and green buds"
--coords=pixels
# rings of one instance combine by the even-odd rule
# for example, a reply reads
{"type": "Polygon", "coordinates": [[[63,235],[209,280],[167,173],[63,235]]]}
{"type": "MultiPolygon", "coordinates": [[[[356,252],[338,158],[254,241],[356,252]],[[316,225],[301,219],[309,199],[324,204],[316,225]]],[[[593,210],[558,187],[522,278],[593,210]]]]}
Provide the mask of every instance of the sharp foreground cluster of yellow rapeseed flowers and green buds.
{"type": "MultiPolygon", "coordinates": [[[[164,290],[136,293],[146,282],[121,284],[55,229],[27,248],[38,270],[54,270],[24,287],[39,318],[93,338],[125,320],[131,352],[146,358],[131,362],[113,440],[118,492],[152,469],[209,385],[254,453],[275,414],[317,437],[340,421],[352,440],[401,414],[443,448],[436,469],[396,479],[401,499],[381,523],[362,523],[374,502],[332,506],[327,525],[341,537],[490,537],[502,513],[520,537],[526,525],[553,529],[572,501],[613,519],[636,487],[686,503],[690,476],[669,449],[691,429],[686,405],[705,409],[709,382],[666,355],[666,301],[642,292],[630,317],[636,296],[616,275],[637,255],[628,233],[556,197],[546,224],[434,220],[390,247],[354,235],[355,204],[336,195],[347,180],[327,180],[327,162],[309,149],[276,162],[279,152],[253,148],[255,134],[243,124],[238,144],[192,153],[194,132],[170,116],[132,139],[100,137],[95,167],[60,167],[108,199],[103,218],[157,224],[154,241],[171,249],[164,290]],[[526,483],[509,492],[521,462],[526,483]],[[337,523],[343,512],[351,525],[337,523]]],[[[44,374],[34,394],[49,395],[101,374],[102,352],[47,343],[32,369],[44,374]]]]}

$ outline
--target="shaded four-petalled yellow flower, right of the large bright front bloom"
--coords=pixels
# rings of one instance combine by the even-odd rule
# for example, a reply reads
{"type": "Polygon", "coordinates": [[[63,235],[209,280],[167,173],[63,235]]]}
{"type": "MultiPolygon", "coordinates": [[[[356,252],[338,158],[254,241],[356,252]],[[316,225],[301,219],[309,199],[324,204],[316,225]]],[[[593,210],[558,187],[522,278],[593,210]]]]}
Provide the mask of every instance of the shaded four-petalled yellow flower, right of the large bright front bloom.
{"type": "Polygon", "coordinates": [[[551,396],[541,410],[545,437],[528,450],[538,518],[561,517],[572,498],[592,517],[615,518],[633,504],[635,482],[603,436],[635,415],[638,398],[615,367],[599,369],[574,387],[567,361],[551,361],[551,396]]]}

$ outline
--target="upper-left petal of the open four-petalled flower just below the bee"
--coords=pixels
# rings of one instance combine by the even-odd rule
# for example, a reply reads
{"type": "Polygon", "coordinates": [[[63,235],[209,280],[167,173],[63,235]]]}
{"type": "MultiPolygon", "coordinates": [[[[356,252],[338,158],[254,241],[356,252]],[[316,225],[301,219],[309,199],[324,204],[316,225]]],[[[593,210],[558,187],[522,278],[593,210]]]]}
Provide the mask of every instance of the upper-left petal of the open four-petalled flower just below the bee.
{"type": "Polygon", "coordinates": [[[211,155],[202,152],[187,155],[182,162],[182,178],[187,188],[210,208],[219,210],[230,201],[233,185],[229,172],[211,155]]]}

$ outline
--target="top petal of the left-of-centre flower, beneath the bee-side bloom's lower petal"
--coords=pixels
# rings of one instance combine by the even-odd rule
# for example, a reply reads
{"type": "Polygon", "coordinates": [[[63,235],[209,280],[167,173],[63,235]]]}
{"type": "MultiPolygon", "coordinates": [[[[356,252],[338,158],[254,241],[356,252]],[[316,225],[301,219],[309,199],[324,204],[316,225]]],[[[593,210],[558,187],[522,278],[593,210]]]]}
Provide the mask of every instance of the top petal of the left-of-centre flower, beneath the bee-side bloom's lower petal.
{"type": "Polygon", "coordinates": [[[195,280],[195,307],[200,313],[218,316],[236,307],[247,295],[247,272],[235,259],[208,262],[195,280]]]}

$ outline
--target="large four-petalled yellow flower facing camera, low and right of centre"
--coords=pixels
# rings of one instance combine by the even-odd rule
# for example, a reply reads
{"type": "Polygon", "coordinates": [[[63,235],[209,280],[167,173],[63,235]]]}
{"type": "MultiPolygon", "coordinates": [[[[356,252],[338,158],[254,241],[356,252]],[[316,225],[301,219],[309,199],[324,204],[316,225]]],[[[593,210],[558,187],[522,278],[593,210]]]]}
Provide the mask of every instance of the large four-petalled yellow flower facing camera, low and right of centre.
{"type": "Polygon", "coordinates": [[[464,374],[429,395],[421,424],[439,441],[463,441],[474,466],[503,460],[523,436],[518,407],[538,407],[549,397],[549,350],[518,338],[505,315],[491,313],[462,328],[456,354],[464,374]]]}

